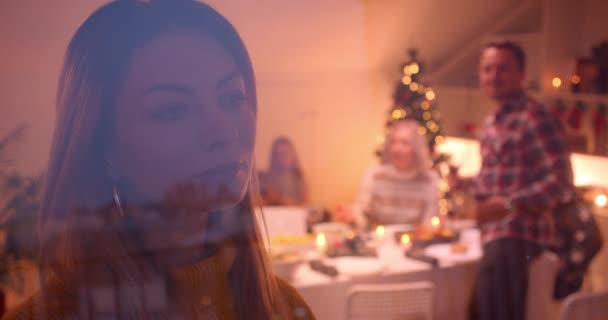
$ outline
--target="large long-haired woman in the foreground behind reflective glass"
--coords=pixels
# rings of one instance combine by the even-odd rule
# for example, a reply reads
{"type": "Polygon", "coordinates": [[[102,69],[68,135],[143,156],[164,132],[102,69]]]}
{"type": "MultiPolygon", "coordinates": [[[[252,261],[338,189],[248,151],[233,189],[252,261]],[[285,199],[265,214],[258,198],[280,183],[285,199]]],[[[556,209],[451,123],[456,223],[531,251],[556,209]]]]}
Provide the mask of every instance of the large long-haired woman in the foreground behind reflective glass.
{"type": "Polygon", "coordinates": [[[5,319],[313,319],[252,204],[256,93],[234,27],[117,0],[65,58],[42,199],[42,290],[5,319]]]}

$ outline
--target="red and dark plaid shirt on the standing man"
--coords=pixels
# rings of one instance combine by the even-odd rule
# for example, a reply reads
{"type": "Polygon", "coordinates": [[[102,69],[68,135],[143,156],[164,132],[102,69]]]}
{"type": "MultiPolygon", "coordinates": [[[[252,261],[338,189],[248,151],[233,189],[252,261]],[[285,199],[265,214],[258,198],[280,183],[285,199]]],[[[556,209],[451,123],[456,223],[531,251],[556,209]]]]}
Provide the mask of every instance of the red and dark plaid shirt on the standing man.
{"type": "Polygon", "coordinates": [[[525,94],[500,106],[481,134],[482,165],[475,198],[511,201],[507,217],[481,226],[484,243],[504,237],[548,245],[552,211],[573,200],[570,155],[561,123],[525,94]]]}

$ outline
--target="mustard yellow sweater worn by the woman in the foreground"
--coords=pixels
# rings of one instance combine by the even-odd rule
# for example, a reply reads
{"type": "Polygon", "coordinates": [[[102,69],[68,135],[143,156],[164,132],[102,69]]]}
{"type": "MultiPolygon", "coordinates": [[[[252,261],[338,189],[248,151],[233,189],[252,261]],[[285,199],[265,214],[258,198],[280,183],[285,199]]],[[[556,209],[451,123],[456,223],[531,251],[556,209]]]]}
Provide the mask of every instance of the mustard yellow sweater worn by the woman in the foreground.
{"type": "MultiPolygon", "coordinates": [[[[216,254],[200,263],[175,271],[173,274],[175,283],[172,285],[175,286],[175,291],[182,292],[183,296],[188,297],[185,299],[187,301],[183,303],[189,315],[180,319],[230,320],[235,318],[228,289],[226,265],[225,255],[216,254]]],[[[292,286],[280,278],[277,278],[277,283],[285,307],[290,314],[288,319],[315,319],[306,302],[292,286]]],[[[128,305],[125,305],[126,303],[121,305],[120,290],[123,289],[137,290],[138,288],[120,288],[118,293],[116,293],[115,287],[105,288],[105,290],[104,288],[88,290],[89,292],[84,298],[84,300],[88,299],[88,303],[86,303],[83,302],[82,292],[70,291],[65,285],[54,285],[49,288],[49,295],[59,297],[58,303],[46,303],[43,297],[37,294],[9,311],[3,320],[120,319],[120,311],[117,313],[117,310],[129,308],[128,305]],[[93,316],[91,317],[91,315],[93,316]]],[[[139,289],[146,310],[151,311],[153,315],[152,319],[167,319],[166,300],[162,298],[162,294],[158,294],[166,294],[166,291],[162,289],[162,286],[156,286],[154,283],[139,289]],[[155,311],[158,312],[155,313],[155,311]],[[154,316],[154,314],[158,316],[154,316]]],[[[284,320],[278,316],[275,319],[284,320]]]]}

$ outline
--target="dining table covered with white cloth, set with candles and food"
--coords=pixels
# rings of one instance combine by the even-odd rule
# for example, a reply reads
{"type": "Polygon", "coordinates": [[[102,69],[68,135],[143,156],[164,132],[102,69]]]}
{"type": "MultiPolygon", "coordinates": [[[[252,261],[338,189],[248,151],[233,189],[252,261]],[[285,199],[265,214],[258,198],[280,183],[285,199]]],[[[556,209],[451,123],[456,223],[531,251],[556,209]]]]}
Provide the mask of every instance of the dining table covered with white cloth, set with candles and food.
{"type": "MultiPolygon", "coordinates": [[[[356,259],[351,259],[349,263],[352,261],[353,265],[349,267],[350,274],[339,274],[333,278],[312,270],[308,264],[302,264],[295,271],[291,283],[317,319],[343,320],[346,316],[347,293],[355,284],[430,281],[434,284],[434,319],[464,320],[481,250],[469,249],[465,259],[458,258],[457,254],[452,254],[451,257],[449,255],[439,258],[439,266],[432,267],[428,263],[397,254],[388,260],[379,260],[381,268],[371,269],[373,272],[369,274],[353,274],[357,262],[356,259]]],[[[331,260],[326,262],[331,264],[331,260]]],[[[369,263],[365,265],[370,269],[369,263]]]]}

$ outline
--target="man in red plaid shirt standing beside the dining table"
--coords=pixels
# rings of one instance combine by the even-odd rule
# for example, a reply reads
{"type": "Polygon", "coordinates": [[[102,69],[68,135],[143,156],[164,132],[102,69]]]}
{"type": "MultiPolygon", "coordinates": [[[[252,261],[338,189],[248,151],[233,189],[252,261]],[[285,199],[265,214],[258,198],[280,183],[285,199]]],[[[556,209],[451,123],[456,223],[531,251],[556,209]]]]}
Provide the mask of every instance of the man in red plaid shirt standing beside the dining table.
{"type": "Polygon", "coordinates": [[[519,46],[484,48],[480,84],[496,109],[482,129],[481,171],[471,181],[484,250],[471,319],[525,318],[528,266],[552,241],[552,210],[575,195],[564,130],[526,95],[524,76],[519,46]]]}

